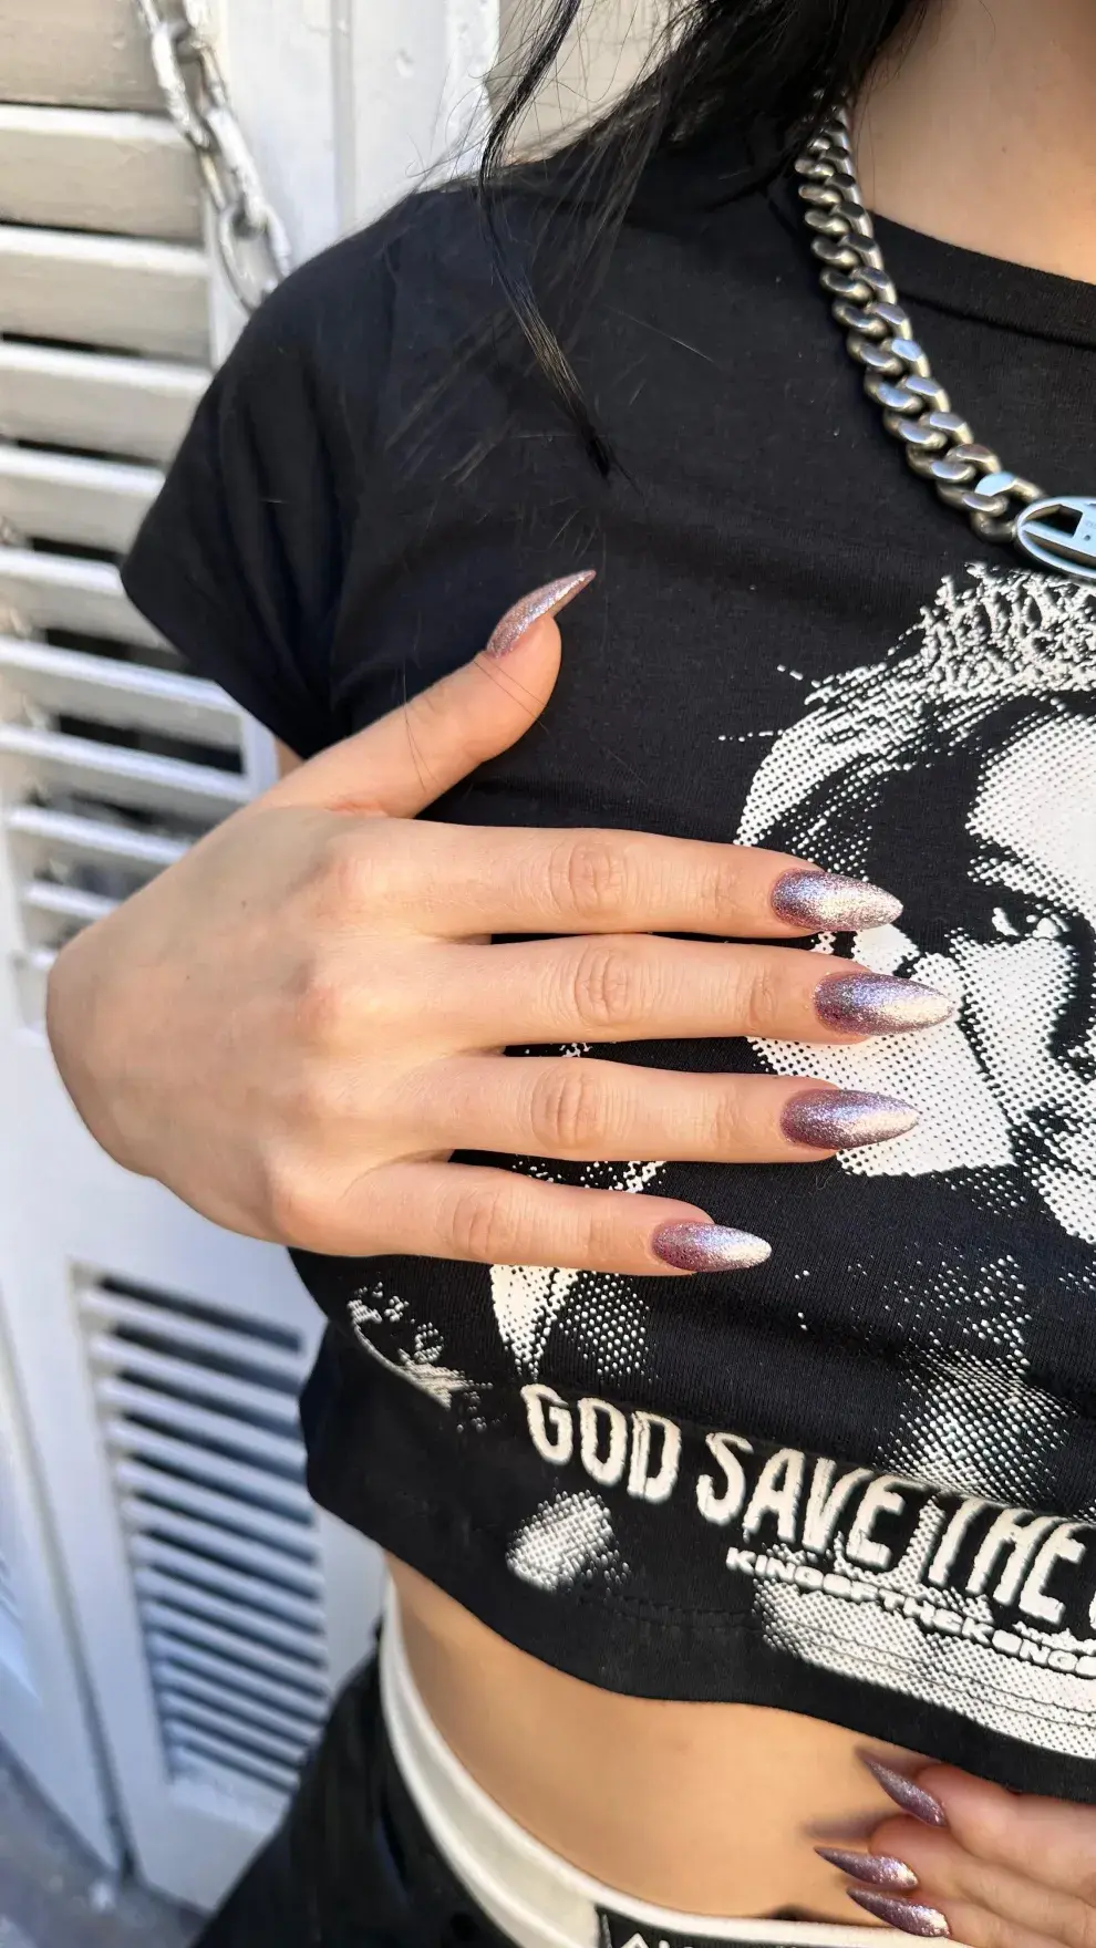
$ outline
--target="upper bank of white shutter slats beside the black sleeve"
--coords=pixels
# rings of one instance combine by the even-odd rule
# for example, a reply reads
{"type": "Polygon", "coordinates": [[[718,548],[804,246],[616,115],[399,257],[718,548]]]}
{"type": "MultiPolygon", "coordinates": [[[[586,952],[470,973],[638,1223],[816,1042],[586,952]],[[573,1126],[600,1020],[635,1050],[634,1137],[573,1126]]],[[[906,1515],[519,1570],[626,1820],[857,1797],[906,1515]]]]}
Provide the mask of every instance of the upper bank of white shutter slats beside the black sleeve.
{"type": "MultiPolygon", "coordinates": [[[[18,6],[14,45],[37,47],[18,6]]],[[[88,97],[74,64],[86,107],[37,95],[37,70],[0,103],[0,877],[27,1023],[59,949],[250,795],[240,711],[121,588],[209,380],[209,265],[133,8],[94,16],[99,64],[125,58],[88,97]]]]}

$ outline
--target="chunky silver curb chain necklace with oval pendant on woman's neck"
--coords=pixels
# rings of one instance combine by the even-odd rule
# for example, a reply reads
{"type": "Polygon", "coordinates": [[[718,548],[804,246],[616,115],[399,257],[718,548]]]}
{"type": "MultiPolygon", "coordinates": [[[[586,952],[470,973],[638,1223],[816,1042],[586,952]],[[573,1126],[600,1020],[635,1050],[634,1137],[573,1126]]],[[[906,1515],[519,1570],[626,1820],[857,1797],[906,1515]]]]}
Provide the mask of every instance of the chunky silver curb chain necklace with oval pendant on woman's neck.
{"type": "Polygon", "coordinates": [[[796,171],[833,316],[913,471],[967,514],[983,542],[1012,543],[1059,575],[1096,582],[1096,497],[1053,501],[1010,473],[932,378],[864,208],[846,109],[831,115],[796,171]]]}

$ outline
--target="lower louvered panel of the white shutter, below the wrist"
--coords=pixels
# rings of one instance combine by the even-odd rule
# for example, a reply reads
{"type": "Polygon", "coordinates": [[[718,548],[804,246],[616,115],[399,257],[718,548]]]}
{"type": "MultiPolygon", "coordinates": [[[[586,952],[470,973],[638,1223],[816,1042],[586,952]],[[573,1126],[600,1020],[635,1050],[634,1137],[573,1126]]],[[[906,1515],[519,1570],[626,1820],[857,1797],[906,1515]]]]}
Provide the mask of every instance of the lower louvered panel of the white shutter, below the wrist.
{"type": "Polygon", "coordinates": [[[113,1278],[78,1309],[170,1777],[281,1796],[330,1704],[304,1344],[113,1278]]]}

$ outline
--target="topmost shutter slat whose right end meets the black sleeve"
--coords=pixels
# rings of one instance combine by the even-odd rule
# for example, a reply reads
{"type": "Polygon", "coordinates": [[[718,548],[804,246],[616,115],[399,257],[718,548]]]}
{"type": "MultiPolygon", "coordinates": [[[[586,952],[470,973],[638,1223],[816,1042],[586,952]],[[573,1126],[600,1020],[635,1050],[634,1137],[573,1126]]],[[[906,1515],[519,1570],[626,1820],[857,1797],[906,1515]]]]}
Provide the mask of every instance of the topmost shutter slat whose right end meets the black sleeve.
{"type": "Polygon", "coordinates": [[[0,432],[166,464],[207,384],[201,366],[0,341],[0,432]]]}

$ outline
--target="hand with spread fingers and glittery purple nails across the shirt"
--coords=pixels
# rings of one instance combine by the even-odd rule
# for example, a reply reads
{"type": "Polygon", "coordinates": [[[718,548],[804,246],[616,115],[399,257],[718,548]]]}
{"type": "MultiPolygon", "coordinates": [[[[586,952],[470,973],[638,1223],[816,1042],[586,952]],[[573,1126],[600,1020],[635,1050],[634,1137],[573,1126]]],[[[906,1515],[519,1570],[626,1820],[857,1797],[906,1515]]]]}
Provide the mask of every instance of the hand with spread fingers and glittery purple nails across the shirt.
{"type": "Polygon", "coordinates": [[[538,717],[560,664],[552,610],[587,579],[528,596],[472,664],[300,766],[64,949],[53,1048],[119,1163],[312,1251],[665,1274],[768,1247],[688,1204],[445,1159],[796,1163],[917,1122],[802,1079],[501,1058],[651,1036],[854,1042],[952,1011],[848,962],[727,945],[899,912],[802,861],[415,822],[538,717]],[[552,937],[489,945],[499,933],[552,937]]]}

